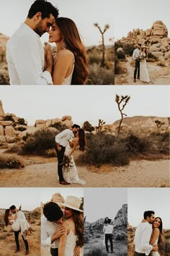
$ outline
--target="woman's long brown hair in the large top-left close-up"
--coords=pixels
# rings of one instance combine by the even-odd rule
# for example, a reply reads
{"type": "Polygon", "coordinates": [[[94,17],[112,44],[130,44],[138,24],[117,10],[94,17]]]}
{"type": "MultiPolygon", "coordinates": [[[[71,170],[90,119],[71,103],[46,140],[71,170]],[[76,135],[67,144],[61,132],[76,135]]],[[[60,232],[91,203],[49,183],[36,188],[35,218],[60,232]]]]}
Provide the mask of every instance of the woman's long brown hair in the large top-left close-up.
{"type": "Polygon", "coordinates": [[[88,60],[86,57],[86,49],[81,42],[76,24],[73,20],[65,17],[57,18],[55,23],[59,30],[61,30],[66,48],[70,50],[75,57],[71,85],[85,85],[89,74],[87,69],[88,60]]]}

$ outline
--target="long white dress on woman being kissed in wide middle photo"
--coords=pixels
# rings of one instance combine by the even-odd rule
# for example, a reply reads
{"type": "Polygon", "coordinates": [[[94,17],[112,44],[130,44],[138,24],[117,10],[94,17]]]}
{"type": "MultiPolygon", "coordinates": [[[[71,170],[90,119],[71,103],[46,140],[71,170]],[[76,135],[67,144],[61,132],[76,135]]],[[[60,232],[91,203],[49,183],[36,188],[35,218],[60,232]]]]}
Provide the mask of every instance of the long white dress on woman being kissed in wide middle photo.
{"type": "MultiPolygon", "coordinates": [[[[70,142],[71,141],[72,140],[70,140],[70,142]]],[[[64,155],[68,156],[69,153],[71,153],[71,150],[72,150],[72,148],[68,142],[66,145],[64,155]]],[[[63,179],[65,179],[66,182],[68,182],[68,183],[78,183],[81,185],[86,184],[86,182],[83,179],[79,179],[76,164],[74,163],[74,160],[73,160],[73,154],[71,155],[69,166],[63,165],[63,179]]]]}

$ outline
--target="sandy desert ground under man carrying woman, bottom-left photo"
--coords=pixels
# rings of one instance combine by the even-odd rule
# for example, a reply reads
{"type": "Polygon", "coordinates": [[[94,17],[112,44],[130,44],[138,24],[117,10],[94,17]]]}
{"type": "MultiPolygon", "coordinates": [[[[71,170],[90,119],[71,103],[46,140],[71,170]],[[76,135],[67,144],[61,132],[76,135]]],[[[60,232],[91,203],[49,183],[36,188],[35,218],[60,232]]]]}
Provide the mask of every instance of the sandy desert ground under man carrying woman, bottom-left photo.
{"type": "MultiPolygon", "coordinates": [[[[32,226],[32,229],[35,229],[35,232],[32,232],[30,236],[27,236],[30,256],[40,255],[40,220],[34,220],[29,222],[32,226]]],[[[19,245],[20,251],[17,254],[14,254],[16,249],[14,241],[14,232],[0,231],[0,255],[1,256],[23,256],[25,252],[24,242],[22,241],[22,236],[19,234],[19,245]]]]}

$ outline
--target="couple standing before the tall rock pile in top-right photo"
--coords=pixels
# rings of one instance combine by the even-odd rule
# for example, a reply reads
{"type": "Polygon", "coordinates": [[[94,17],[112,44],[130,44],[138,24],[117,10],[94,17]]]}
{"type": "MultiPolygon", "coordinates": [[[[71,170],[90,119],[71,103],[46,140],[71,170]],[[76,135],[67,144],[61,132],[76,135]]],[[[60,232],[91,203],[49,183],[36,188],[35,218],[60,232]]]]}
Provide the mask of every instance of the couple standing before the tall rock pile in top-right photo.
{"type": "Polygon", "coordinates": [[[137,78],[142,82],[150,82],[148,69],[146,66],[146,46],[142,46],[138,43],[137,48],[133,51],[133,59],[135,60],[135,71],[134,71],[134,80],[136,82],[136,75],[137,78]],[[138,73],[138,74],[137,74],[138,73]]]}

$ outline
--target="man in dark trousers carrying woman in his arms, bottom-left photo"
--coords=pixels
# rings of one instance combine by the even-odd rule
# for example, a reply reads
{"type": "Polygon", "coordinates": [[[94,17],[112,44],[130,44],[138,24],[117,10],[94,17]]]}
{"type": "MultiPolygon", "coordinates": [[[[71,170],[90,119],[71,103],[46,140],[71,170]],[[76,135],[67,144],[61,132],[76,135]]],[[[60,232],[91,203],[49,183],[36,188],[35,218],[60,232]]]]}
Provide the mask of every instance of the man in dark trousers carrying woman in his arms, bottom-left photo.
{"type": "MultiPolygon", "coordinates": [[[[9,209],[12,211],[12,213],[17,213],[17,218],[26,219],[25,216],[24,216],[24,213],[22,212],[22,210],[17,211],[17,208],[15,207],[15,205],[12,205],[9,209]]],[[[14,253],[19,252],[19,239],[18,239],[18,236],[19,236],[19,231],[14,231],[14,239],[15,239],[15,243],[17,245],[17,248],[16,248],[14,253]]],[[[24,241],[25,255],[29,255],[29,246],[28,246],[27,239],[24,239],[24,236],[22,236],[22,240],[24,241]]]]}

